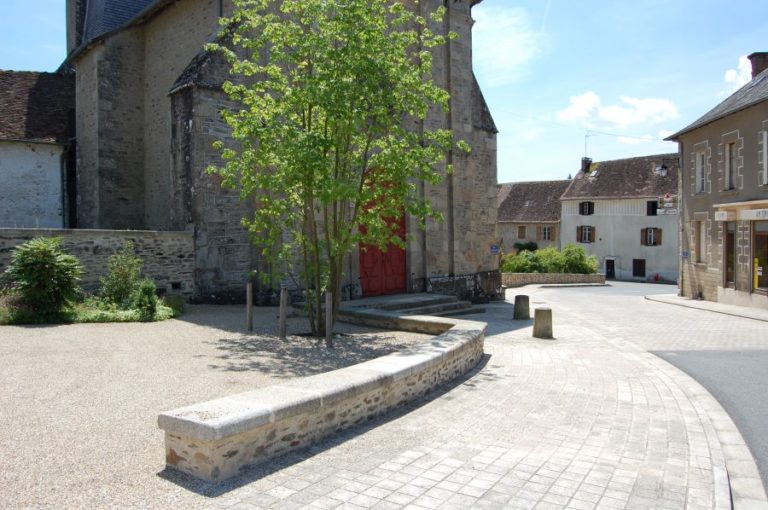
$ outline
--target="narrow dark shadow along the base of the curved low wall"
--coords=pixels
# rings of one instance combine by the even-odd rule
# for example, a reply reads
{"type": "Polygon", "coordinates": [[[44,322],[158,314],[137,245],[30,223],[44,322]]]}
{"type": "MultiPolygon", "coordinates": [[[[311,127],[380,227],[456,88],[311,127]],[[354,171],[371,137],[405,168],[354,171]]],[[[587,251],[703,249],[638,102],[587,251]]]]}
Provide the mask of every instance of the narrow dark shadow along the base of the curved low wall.
{"type": "MultiPolygon", "coordinates": [[[[343,444],[350,439],[365,434],[381,425],[397,420],[402,416],[419,409],[420,407],[446,396],[451,390],[464,386],[469,391],[482,391],[485,384],[500,380],[503,378],[496,370],[496,367],[488,368],[488,362],[491,359],[490,354],[483,354],[479,363],[464,375],[446,382],[440,387],[432,390],[430,393],[417,400],[403,404],[397,408],[391,409],[383,415],[372,418],[369,421],[350,427],[344,431],[321,439],[317,443],[305,446],[293,452],[286,453],[274,459],[264,461],[261,464],[245,466],[241,468],[240,474],[228,480],[221,482],[206,482],[191,475],[166,467],[157,473],[157,476],[174,483],[191,492],[208,498],[222,496],[232,490],[238,489],[262,478],[270,476],[282,469],[301,463],[319,453],[330,450],[343,444]]],[[[450,400],[450,397],[449,397],[450,400]]],[[[364,453],[361,453],[363,455],[364,453]]]]}

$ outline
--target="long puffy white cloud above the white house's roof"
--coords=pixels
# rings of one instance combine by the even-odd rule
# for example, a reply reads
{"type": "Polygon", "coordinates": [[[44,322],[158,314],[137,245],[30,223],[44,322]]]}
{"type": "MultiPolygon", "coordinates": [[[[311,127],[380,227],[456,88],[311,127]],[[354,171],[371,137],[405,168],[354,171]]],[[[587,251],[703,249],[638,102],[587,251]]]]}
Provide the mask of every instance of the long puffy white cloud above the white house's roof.
{"type": "Polygon", "coordinates": [[[619,104],[603,105],[592,91],[571,96],[570,105],[557,113],[563,122],[579,123],[595,128],[598,122],[610,128],[623,129],[635,125],[658,124],[680,116],[677,106],[669,99],[620,96],[619,104]]]}

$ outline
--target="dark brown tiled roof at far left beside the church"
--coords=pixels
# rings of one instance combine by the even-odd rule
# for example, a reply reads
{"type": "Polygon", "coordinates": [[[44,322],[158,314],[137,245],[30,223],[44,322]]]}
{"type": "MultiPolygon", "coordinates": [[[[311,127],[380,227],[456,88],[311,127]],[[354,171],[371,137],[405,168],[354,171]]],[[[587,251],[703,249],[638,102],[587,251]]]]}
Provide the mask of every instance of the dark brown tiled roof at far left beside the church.
{"type": "Polygon", "coordinates": [[[74,76],[0,71],[0,139],[63,143],[74,108],[74,76]]]}

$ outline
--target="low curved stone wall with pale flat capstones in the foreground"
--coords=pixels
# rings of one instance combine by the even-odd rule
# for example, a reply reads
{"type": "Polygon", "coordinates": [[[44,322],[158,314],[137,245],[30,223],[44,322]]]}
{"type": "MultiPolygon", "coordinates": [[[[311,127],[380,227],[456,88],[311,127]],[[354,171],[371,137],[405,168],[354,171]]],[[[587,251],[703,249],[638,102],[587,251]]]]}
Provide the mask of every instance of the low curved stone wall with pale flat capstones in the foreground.
{"type": "MultiPolygon", "coordinates": [[[[395,320],[394,314],[385,315],[390,317],[382,320],[395,320]]],[[[429,343],[351,367],[160,414],[166,465],[208,481],[224,480],[244,466],[422,397],[482,358],[485,323],[423,316],[409,316],[407,322],[444,332],[429,343]]]]}

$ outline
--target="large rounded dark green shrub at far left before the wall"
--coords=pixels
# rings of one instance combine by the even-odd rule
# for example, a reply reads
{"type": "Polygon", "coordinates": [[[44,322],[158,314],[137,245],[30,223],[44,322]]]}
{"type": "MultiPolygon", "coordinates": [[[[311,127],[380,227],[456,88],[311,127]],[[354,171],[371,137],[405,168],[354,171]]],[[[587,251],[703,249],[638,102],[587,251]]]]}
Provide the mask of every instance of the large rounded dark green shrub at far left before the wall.
{"type": "Polygon", "coordinates": [[[61,239],[38,237],[13,250],[6,277],[24,307],[33,314],[60,314],[80,293],[80,262],[61,249],[61,239]]]}

